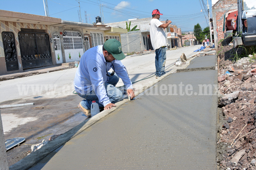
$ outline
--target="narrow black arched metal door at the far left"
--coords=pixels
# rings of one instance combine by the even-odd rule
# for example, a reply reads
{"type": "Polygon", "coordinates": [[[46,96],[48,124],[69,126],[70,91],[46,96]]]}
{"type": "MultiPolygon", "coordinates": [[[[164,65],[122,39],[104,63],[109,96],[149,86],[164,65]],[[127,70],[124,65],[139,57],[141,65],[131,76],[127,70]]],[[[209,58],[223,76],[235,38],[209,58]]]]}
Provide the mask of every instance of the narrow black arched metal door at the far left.
{"type": "Polygon", "coordinates": [[[2,32],[2,39],[7,71],[19,70],[13,32],[2,32]]]}

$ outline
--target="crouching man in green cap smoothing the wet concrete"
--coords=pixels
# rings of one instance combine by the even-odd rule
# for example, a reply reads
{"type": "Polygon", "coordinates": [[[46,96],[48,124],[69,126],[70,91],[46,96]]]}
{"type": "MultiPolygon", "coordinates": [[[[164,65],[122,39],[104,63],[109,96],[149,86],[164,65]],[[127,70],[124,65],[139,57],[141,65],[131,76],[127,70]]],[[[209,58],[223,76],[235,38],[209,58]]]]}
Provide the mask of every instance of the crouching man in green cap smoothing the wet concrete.
{"type": "Polygon", "coordinates": [[[74,86],[77,94],[84,99],[78,107],[87,117],[91,117],[90,106],[93,100],[105,110],[115,107],[114,103],[122,100],[122,91],[115,87],[119,77],[125,84],[127,95],[134,98],[131,80],[120,61],[124,58],[121,43],[115,39],[109,39],[104,45],[94,46],[82,55],[74,86]],[[111,68],[114,71],[110,74],[111,68]]]}

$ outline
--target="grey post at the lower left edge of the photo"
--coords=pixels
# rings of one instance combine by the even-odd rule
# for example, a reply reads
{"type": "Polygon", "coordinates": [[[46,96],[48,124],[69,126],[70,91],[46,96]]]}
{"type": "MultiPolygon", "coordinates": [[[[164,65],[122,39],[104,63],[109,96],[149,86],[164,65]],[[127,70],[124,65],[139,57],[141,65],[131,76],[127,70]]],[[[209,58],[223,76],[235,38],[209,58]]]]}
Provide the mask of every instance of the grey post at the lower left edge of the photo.
{"type": "Polygon", "coordinates": [[[6,147],[5,147],[5,137],[3,136],[3,124],[2,118],[0,113],[0,170],[7,170],[8,162],[7,162],[7,154],[6,154],[6,147]]]}

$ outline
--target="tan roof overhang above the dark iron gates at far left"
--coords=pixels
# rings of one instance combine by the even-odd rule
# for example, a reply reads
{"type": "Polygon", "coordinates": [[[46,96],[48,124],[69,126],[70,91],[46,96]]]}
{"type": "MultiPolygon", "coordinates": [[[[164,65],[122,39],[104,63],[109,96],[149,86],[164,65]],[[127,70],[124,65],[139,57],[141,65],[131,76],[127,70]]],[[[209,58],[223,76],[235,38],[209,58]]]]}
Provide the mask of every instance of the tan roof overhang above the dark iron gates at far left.
{"type": "Polygon", "coordinates": [[[30,23],[55,25],[61,23],[60,18],[52,18],[49,16],[41,16],[34,14],[26,14],[21,12],[0,10],[0,20],[7,22],[30,23]]]}

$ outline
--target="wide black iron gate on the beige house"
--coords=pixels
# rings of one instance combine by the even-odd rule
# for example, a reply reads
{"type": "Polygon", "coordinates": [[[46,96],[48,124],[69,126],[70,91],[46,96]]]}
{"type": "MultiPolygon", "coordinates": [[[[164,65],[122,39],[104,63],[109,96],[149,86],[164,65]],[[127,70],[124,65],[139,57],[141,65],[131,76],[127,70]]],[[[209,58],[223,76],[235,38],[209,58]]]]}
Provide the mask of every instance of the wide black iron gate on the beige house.
{"type": "Polygon", "coordinates": [[[19,44],[23,69],[52,65],[47,33],[19,32],[19,44]]]}

